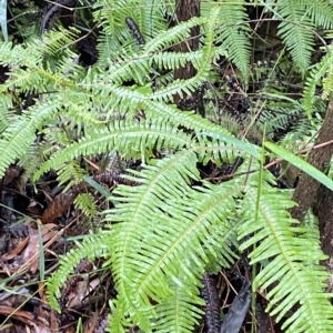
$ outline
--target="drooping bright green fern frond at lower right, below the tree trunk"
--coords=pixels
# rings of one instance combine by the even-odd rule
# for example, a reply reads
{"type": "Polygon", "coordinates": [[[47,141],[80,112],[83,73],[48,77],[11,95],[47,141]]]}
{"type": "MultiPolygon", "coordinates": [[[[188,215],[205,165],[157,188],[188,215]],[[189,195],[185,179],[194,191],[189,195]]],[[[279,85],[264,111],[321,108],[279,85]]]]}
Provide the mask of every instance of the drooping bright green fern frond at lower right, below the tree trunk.
{"type": "Polygon", "coordinates": [[[302,234],[304,228],[292,226],[299,222],[292,220],[287,209],[294,205],[289,195],[276,191],[263,190],[258,198],[256,191],[245,189],[241,214],[243,222],[239,229],[239,239],[253,233],[240,250],[256,243],[250,254],[251,264],[261,263],[263,270],[254,280],[254,286],[270,287],[268,310],[281,320],[294,305],[297,310],[282,325],[286,332],[330,332],[333,324],[332,305],[329,294],[323,293],[327,273],[319,265],[325,259],[317,238],[302,234]],[[259,201],[259,216],[253,211],[259,201]],[[250,213],[251,212],[251,213],[250,213]],[[270,260],[268,262],[268,260],[270,260]],[[279,282],[278,285],[275,283],[279,282]],[[292,285],[292,290],[289,287],[292,285]]]}

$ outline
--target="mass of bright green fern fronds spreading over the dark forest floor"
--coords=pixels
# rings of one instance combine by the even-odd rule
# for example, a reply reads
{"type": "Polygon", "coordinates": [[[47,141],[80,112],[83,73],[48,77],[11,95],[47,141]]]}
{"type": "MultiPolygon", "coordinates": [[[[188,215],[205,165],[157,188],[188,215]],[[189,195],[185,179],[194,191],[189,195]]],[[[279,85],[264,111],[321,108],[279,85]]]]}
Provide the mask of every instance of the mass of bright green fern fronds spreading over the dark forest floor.
{"type": "MultiPolygon", "coordinates": [[[[201,2],[200,18],[168,28],[165,13],[173,12],[167,1],[94,1],[100,57],[87,70],[75,61],[72,46],[79,32],[74,30],[0,46],[0,64],[11,65],[0,87],[1,175],[18,162],[33,181],[56,170],[69,188],[84,179],[78,162],[82,155],[119,152],[123,160],[142,163],[140,172],[129,170],[125,175],[140,183],[135,191],[119,185],[112,193],[115,208],[104,212],[109,229],[84,238],[61,259],[47,284],[50,305],[60,311],[60,287],[81,259],[102,256],[118,291],[110,301],[111,332],[125,332],[132,324],[144,332],[192,332],[202,314],[203,272],[229,268],[249,251],[251,264],[262,266],[253,290],[268,289],[271,314],[279,321],[293,306],[297,309],[285,320],[285,332],[331,332],[332,306],[323,292],[327,274],[319,265],[324,259],[319,235],[290,218],[287,210],[294,204],[290,194],[274,188],[269,171],[259,172],[261,149],[171,104],[175,93],[190,94],[202,83],[213,84],[218,75],[213,62],[221,56],[238,67],[245,82],[249,79],[250,29],[243,2],[201,2]],[[138,23],[145,44],[138,44],[125,26],[127,17],[138,23]],[[199,49],[173,52],[171,48],[198,24],[199,49]],[[173,70],[186,61],[195,67],[195,77],[174,81],[173,70]],[[22,111],[21,93],[33,97],[22,111]],[[13,112],[13,107],[20,111],[13,112]],[[165,158],[158,159],[162,151],[165,158]],[[238,157],[243,159],[240,175],[216,184],[201,179],[200,163],[221,165],[238,157]]],[[[331,28],[332,6],[278,2],[271,12],[284,19],[280,34],[304,74],[313,49],[311,30],[320,24],[331,28]]],[[[307,98],[313,95],[313,80],[327,71],[327,57],[324,69],[316,67],[309,79],[307,98]]],[[[289,102],[274,108],[294,114],[303,111],[299,102],[289,102]]],[[[286,120],[272,119],[265,111],[261,128],[268,123],[274,130],[286,120]]],[[[92,199],[81,194],[77,204],[93,214],[92,199]]]]}

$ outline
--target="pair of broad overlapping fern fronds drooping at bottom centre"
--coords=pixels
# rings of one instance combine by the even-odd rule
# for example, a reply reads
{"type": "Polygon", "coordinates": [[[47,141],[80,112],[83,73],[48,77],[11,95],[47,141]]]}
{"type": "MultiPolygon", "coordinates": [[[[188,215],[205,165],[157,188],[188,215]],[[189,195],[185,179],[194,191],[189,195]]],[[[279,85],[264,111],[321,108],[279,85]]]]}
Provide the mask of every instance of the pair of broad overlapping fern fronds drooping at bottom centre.
{"type": "MultiPolygon", "coordinates": [[[[168,302],[173,294],[169,280],[191,294],[186,284],[200,285],[209,253],[216,256],[216,249],[223,248],[219,252],[226,266],[236,258],[230,240],[225,244],[221,240],[232,229],[228,216],[242,186],[228,182],[193,191],[191,181],[199,180],[196,162],[193,152],[181,151],[135,173],[142,183],[135,192],[129,186],[114,192],[121,204],[108,219],[113,221],[114,235],[123,236],[114,238],[111,262],[118,301],[134,322],[150,323],[143,317],[155,316],[150,297],[159,304],[168,302]]],[[[150,326],[142,330],[149,332],[150,326]]]]}

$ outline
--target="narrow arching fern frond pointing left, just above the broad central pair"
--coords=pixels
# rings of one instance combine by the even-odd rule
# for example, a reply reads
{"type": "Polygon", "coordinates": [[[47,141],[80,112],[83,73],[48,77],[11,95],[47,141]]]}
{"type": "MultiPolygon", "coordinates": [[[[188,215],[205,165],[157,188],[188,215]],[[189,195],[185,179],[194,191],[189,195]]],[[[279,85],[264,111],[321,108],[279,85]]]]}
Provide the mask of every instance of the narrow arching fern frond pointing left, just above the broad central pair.
{"type": "MultiPolygon", "coordinates": [[[[79,142],[72,143],[63,150],[56,152],[52,158],[47,161],[40,170],[34,174],[33,179],[51,170],[59,170],[63,163],[69,162],[80,155],[91,155],[95,153],[105,153],[112,151],[127,152],[124,159],[140,159],[143,161],[152,157],[154,147],[160,149],[178,149],[189,147],[191,137],[184,132],[178,131],[170,125],[161,125],[159,122],[132,122],[120,121],[110,129],[95,131],[79,142]],[[163,134],[164,132],[164,134],[163,134]],[[98,151],[97,151],[98,147],[98,151]]],[[[1,145],[0,145],[1,148],[1,145]]]]}

